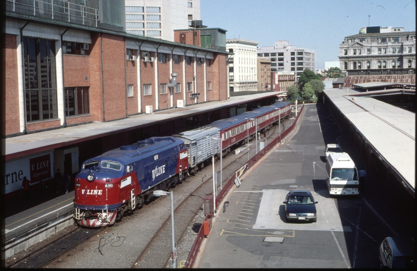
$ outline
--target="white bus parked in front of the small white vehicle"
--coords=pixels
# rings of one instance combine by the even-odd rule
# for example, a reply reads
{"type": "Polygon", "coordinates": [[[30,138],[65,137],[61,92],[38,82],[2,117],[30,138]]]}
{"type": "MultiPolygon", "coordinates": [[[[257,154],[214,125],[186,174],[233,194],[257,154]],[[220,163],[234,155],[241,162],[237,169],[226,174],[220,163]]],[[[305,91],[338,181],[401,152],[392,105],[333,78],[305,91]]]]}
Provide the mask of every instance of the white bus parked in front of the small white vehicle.
{"type": "Polygon", "coordinates": [[[329,154],[326,183],[330,195],[359,195],[358,170],[347,153],[329,154]]]}

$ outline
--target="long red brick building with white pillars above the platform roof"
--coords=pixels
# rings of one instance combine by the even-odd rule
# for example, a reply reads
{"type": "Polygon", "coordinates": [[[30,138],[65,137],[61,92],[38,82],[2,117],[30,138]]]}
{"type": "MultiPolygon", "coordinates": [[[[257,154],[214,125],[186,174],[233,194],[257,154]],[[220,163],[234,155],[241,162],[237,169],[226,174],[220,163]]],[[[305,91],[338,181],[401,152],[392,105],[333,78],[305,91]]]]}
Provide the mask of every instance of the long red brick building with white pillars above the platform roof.
{"type": "Polygon", "coordinates": [[[4,136],[228,99],[225,49],[129,34],[124,17],[98,0],[7,2],[4,136]]]}

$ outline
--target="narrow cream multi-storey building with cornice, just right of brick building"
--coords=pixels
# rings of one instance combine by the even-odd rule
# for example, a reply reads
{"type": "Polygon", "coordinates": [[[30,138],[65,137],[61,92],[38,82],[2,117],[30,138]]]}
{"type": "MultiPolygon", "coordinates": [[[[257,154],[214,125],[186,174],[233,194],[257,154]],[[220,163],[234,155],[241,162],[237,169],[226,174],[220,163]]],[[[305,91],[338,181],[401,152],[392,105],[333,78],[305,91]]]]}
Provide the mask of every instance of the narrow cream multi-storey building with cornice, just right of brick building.
{"type": "Polygon", "coordinates": [[[230,91],[257,91],[257,48],[259,42],[244,39],[226,40],[229,53],[230,91]]]}

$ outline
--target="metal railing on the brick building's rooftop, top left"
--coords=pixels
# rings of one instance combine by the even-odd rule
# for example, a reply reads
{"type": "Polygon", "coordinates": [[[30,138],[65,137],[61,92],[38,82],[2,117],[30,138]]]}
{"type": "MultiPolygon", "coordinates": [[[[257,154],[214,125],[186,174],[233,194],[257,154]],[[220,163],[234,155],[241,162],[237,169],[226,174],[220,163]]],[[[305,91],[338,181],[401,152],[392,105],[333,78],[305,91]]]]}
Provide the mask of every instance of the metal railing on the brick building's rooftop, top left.
{"type": "MultiPolygon", "coordinates": [[[[90,1],[98,7],[98,1],[90,1]]],[[[6,0],[6,11],[98,27],[98,9],[63,0],[6,0]]]]}

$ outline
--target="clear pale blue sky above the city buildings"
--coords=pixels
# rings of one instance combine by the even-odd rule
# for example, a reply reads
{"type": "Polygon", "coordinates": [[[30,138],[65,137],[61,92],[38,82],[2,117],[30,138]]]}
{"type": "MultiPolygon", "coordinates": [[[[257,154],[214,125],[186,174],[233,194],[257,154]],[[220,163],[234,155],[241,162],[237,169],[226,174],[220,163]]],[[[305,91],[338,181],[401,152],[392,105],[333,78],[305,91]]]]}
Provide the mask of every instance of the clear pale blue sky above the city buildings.
{"type": "Polygon", "coordinates": [[[368,26],[415,31],[415,0],[200,0],[201,20],[226,39],[288,41],[316,50],[316,68],[339,61],[339,45],[368,26]]]}

